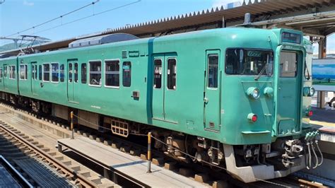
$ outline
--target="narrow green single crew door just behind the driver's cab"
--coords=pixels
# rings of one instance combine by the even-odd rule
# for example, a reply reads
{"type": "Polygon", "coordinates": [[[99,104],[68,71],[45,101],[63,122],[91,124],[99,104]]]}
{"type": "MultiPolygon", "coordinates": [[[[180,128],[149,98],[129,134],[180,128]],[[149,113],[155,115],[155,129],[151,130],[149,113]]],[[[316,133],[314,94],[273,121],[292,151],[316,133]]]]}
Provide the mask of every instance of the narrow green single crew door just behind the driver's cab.
{"type": "Polygon", "coordinates": [[[204,88],[204,127],[220,131],[221,127],[221,71],[220,50],[206,51],[204,88]]]}

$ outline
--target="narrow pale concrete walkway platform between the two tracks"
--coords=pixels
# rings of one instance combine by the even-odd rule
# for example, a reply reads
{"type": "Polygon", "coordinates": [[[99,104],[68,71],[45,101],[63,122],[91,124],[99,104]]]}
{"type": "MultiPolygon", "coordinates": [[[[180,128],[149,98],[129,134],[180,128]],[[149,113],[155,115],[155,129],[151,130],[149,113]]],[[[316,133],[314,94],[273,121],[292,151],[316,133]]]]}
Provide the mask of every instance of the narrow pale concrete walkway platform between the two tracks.
{"type": "Polygon", "coordinates": [[[206,187],[205,184],[154,164],[151,164],[151,173],[147,173],[146,160],[123,153],[87,137],[59,139],[57,142],[62,149],[69,148],[91,161],[94,160],[99,165],[110,168],[113,172],[131,178],[136,182],[145,183],[144,185],[141,184],[144,187],[206,187]]]}

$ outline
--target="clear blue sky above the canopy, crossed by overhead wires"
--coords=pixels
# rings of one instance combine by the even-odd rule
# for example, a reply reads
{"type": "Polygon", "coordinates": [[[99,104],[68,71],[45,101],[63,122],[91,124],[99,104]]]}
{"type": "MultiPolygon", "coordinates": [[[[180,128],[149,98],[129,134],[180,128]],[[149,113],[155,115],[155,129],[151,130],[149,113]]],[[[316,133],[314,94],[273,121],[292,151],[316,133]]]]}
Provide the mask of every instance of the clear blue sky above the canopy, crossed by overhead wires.
{"type": "MultiPolygon", "coordinates": [[[[90,4],[93,1],[96,0],[6,0],[4,4],[0,4],[0,36],[11,35],[20,30],[33,27],[46,20],[90,4]]],[[[98,32],[107,28],[117,28],[127,24],[200,11],[233,1],[242,2],[242,0],[142,0],[137,4],[41,32],[42,30],[61,25],[61,23],[68,23],[72,20],[134,1],[136,0],[100,0],[94,6],[83,8],[81,11],[64,16],[64,18],[54,20],[52,23],[42,25],[33,30],[28,30],[20,35],[39,35],[52,40],[61,40],[98,32]]],[[[11,40],[0,40],[0,45],[8,42],[11,42],[11,40]]],[[[335,35],[329,37],[327,46],[329,50],[335,52],[335,35]]]]}

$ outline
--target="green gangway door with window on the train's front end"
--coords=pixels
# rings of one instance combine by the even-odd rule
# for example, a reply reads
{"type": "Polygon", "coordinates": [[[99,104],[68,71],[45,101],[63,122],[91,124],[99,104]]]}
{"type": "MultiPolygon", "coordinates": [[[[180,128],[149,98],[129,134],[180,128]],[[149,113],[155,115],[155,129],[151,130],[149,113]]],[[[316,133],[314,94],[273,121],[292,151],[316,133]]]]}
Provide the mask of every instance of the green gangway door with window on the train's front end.
{"type": "Polygon", "coordinates": [[[278,134],[300,131],[300,70],[299,52],[281,51],[279,59],[277,124],[278,134]],[[290,104],[290,105],[287,105],[290,104]],[[293,105],[294,104],[294,105],[293,105]]]}

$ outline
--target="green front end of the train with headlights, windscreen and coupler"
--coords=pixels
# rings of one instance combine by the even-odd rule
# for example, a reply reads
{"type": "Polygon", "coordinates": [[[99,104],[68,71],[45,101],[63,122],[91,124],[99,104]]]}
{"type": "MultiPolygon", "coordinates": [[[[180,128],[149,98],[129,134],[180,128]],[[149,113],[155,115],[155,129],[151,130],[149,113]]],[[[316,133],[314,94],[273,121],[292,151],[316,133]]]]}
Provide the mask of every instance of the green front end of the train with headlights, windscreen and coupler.
{"type": "MultiPolygon", "coordinates": [[[[253,47],[226,51],[223,83],[240,86],[235,93],[242,94],[234,105],[235,112],[241,113],[225,110],[228,112],[222,117],[226,122],[240,117],[235,127],[230,127],[240,132],[239,136],[228,135],[232,143],[223,145],[225,163],[227,170],[244,182],[285,177],[306,166],[316,168],[308,161],[313,158],[312,150],[318,152],[318,133],[302,126],[302,119],[312,115],[303,98],[314,95],[311,86],[304,86],[310,70],[306,69],[302,33],[287,29],[269,33],[272,35],[255,35],[259,42],[253,47]]],[[[230,92],[225,95],[223,98],[230,92]]],[[[227,102],[223,99],[223,105],[227,102]]]]}

